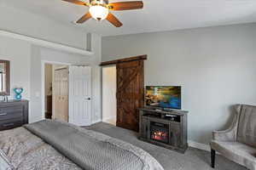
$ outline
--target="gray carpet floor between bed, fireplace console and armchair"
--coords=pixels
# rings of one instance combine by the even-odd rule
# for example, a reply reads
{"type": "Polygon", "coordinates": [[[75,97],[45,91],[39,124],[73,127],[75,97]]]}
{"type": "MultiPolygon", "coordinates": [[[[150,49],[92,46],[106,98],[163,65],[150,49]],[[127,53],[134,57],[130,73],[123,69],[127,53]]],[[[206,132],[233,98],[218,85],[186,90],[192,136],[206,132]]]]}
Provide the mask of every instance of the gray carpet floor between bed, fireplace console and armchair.
{"type": "MultiPolygon", "coordinates": [[[[160,162],[165,170],[212,170],[212,167],[210,167],[210,152],[205,150],[189,147],[185,154],[180,154],[176,151],[143,142],[137,139],[137,133],[104,122],[99,122],[85,128],[124,140],[146,150],[160,162]]],[[[224,156],[217,155],[215,170],[247,170],[247,168],[229,161],[224,156]]]]}

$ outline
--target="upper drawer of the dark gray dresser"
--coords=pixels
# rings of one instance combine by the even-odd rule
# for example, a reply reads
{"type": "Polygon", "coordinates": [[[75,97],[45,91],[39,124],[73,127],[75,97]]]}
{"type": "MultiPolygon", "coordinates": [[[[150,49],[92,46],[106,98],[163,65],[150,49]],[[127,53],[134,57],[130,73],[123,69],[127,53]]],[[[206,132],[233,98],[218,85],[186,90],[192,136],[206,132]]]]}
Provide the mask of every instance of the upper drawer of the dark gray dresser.
{"type": "Polygon", "coordinates": [[[0,121],[9,119],[22,119],[23,108],[22,105],[15,105],[12,107],[0,107],[0,121]]]}

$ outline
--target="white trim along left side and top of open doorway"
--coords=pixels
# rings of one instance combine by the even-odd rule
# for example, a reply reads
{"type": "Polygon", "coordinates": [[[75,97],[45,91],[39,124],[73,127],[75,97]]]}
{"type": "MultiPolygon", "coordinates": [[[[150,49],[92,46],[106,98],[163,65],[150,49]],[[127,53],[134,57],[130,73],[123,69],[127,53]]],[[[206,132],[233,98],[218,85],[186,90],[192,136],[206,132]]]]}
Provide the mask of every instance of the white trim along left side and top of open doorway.
{"type": "Polygon", "coordinates": [[[42,79],[41,79],[41,82],[42,82],[42,92],[41,92],[41,99],[42,99],[42,120],[45,119],[45,91],[44,91],[44,88],[45,88],[45,80],[44,80],[44,77],[45,77],[45,64],[50,64],[50,65],[72,65],[71,63],[63,63],[63,62],[58,62],[58,61],[49,61],[49,60],[41,60],[41,75],[42,75],[42,79]]]}

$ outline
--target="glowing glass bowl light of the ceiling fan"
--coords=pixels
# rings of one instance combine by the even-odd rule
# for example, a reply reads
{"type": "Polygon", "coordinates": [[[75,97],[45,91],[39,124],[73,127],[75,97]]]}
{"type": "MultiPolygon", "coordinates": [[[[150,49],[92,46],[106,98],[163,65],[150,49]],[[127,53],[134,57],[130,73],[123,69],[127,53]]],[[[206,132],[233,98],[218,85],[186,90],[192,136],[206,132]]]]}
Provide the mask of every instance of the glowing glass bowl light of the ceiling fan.
{"type": "Polygon", "coordinates": [[[89,12],[91,14],[91,17],[95,20],[105,20],[109,13],[108,8],[102,5],[90,6],[89,12]]]}

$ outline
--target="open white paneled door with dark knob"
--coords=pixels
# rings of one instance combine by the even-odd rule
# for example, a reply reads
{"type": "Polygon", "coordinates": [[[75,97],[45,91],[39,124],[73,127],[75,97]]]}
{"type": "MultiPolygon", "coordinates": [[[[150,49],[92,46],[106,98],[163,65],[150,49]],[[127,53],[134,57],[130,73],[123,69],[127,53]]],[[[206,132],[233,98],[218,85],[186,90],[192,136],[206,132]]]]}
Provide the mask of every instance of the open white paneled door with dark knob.
{"type": "Polygon", "coordinates": [[[69,67],[69,122],[78,126],[91,124],[91,68],[69,67]]]}

